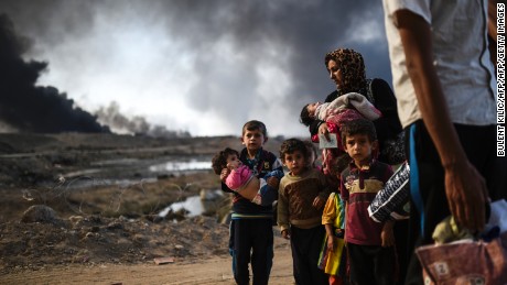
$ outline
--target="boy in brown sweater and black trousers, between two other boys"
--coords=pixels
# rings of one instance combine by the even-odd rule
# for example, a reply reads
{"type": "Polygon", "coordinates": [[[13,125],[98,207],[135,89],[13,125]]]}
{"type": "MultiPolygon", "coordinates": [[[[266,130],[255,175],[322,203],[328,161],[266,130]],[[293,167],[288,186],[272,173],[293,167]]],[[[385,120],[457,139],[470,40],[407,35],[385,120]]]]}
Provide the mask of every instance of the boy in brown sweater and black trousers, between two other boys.
{"type": "Polygon", "coordinates": [[[322,210],[330,189],[324,175],[311,167],[304,142],[289,139],[280,146],[280,158],[289,173],[280,180],[278,224],[284,239],[290,239],[293,274],[296,284],[327,284],[317,267],[325,229],[322,210]]]}

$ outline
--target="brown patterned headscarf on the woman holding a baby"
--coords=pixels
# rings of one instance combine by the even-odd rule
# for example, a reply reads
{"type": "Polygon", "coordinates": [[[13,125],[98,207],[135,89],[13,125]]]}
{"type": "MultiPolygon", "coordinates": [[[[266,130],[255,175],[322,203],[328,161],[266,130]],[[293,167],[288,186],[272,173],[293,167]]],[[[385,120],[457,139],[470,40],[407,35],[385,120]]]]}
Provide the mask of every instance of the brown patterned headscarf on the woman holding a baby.
{"type": "Polygon", "coordinates": [[[363,56],[350,48],[338,48],[325,55],[325,66],[333,59],[338,64],[343,75],[343,86],[339,86],[338,96],[348,92],[358,92],[366,96],[366,72],[363,56]]]}

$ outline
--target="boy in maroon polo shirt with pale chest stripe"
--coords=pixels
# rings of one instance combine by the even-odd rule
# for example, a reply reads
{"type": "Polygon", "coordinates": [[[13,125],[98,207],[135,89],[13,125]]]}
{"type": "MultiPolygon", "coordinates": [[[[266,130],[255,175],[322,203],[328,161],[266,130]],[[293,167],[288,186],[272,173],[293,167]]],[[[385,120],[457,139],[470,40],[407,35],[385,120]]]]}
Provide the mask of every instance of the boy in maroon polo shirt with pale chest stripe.
{"type": "Polygon", "coordinates": [[[352,157],[341,177],[341,194],[346,202],[345,241],[350,283],[395,284],[393,221],[375,222],[368,215],[368,206],[392,175],[392,168],[371,157],[371,152],[378,147],[371,121],[354,120],[341,131],[345,151],[352,157]]]}

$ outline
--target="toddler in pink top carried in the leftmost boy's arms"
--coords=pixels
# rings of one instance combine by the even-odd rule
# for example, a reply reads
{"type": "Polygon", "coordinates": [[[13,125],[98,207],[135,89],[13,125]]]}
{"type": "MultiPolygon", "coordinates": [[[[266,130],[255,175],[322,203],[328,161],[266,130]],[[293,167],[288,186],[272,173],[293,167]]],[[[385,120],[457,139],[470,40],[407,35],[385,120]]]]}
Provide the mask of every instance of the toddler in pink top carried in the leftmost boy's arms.
{"type": "Polygon", "coordinates": [[[284,175],[280,169],[257,178],[252,171],[239,160],[239,153],[230,147],[215,154],[212,167],[217,175],[220,175],[224,168],[229,169],[230,173],[225,178],[227,187],[257,205],[270,206],[278,199],[278,188],[269,186],[266,180],[269,177],[277,177],[280,180],[284,175]]]}

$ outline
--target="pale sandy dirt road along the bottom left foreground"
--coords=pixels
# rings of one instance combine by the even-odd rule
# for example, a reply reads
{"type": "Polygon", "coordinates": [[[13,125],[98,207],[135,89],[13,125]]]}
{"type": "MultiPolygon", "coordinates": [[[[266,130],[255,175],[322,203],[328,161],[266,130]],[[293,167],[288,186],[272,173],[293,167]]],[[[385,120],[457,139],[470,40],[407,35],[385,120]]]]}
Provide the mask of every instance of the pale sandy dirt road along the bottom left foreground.
{"type": "MultiPolygon", "coordinates": [[[[197,263],[155,265],[69,265],[39,271],[20,271],[0,276],[0,284],[235,284],[228,255],[197,263]]],[[[269,284],[293,284],[289,243],[276,238],[273,268],[269,284]]]]}

